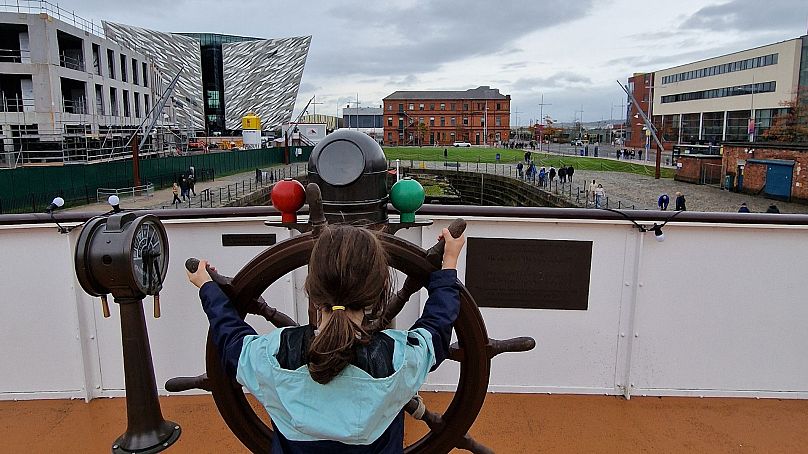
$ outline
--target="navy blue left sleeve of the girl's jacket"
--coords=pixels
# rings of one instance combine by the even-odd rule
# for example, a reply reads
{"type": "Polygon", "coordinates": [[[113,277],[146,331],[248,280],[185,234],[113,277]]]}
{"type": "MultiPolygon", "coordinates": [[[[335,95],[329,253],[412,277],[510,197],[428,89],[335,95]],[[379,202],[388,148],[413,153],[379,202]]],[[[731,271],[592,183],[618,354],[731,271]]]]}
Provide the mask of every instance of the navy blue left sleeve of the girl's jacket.
{"type": "Polygon", "coordinates": [[[230,299],[215,282],[206,282],[199,288],[199,299],[210,321],[211,337],[222,367],[227,375],[235,377],[244,337],[258,333],[238,316],[230,299]]]}

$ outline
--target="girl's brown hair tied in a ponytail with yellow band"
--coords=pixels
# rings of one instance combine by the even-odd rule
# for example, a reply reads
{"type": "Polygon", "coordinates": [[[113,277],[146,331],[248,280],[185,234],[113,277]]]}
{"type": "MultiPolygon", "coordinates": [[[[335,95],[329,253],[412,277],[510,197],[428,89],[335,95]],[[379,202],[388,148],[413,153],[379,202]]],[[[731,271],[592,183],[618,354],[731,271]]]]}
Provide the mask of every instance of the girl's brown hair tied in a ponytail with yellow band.
{"type": "MultiPolygon", "coordinates": [[[[348,225],[328,226],[320,233],[309,260],[306,293],[318,309],[344,306],[377,317],[390,298],[387,254],[373,232],[348,225]]],[[[354,357],[355,347],[370,341],[345,310],[332,311],[309,346],[311,378],[326,384],[354,357]]]]}

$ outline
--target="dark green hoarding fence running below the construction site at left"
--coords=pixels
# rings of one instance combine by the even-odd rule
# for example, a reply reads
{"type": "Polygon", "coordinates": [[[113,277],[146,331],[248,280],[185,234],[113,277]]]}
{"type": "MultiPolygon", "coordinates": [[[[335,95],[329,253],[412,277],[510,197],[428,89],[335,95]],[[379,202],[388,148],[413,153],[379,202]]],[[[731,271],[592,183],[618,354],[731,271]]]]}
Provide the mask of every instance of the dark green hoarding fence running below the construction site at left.
{"type": "MultiPolygon", "coordinates": [[[[301,156],[290,152],[293,162],[309,159],[311,147],[301,156]]],[[[197,181],[215,176],[254,170],[283,163],[280,148],[225,151],[220,153],[168,156],[140,160],[140,179],[154,184],[155,189],[170,186],[177,177],[196,169],[197,181]]],[[[92,203],[98,188],[132,186],[132,160],[63,166],[22,167],[0,170],[0,214],[42,211],[54,197],[68,205],[92,203]]]]}

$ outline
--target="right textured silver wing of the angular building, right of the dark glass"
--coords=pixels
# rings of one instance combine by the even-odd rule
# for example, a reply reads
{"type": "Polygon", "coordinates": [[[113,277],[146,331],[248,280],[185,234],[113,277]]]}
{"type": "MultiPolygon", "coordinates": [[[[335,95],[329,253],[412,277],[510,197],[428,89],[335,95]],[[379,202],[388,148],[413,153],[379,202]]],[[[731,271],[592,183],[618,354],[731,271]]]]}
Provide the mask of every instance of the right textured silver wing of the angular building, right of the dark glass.
{"type": "Polygon", "coordinates": [[[222,44],[225,125],[241,129],[254,112],[263,130],[292,118],[311,36],[222,44]]]}

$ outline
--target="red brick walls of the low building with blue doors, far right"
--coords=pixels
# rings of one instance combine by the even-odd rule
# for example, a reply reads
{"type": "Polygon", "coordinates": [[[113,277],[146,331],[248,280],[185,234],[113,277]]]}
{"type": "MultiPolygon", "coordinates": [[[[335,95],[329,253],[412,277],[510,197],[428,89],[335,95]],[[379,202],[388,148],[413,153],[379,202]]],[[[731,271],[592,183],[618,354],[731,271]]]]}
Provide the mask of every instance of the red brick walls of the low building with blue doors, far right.
{"type": "MultiPolygon", "coordinates": [[[[750,144],[752,145],[752,144],[750,144]]],[[[766,165],[750,163],[750,159],[779,159],[795,161],[791,180],[791,197],[808,201],[808,149],[760,148],[724,146],[724,169],[738,181],[738,161],[746,161],[743,172],[743,192],[758,193],[766,186],[766,165]],[[749,152],[749,150],[752,150],[749,152]]]]}

